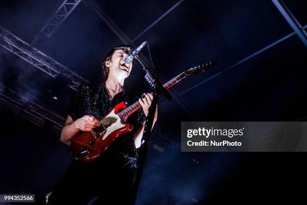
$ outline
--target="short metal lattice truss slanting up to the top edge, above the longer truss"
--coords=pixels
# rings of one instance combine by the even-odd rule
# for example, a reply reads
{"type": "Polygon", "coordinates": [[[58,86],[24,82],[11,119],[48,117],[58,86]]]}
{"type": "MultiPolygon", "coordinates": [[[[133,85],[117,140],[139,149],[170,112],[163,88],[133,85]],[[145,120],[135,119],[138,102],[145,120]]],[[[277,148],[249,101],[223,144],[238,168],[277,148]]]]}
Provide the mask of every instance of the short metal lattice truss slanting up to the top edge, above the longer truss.
{"type": "Polygon", "coordinates": [[[48,19],[45,26],[39,32],[39,35],[33,40],[33,44],[38,45],[40,43],[45,43],[80,2],[81,0],[64,0],[52,17],[48,19]]]}

